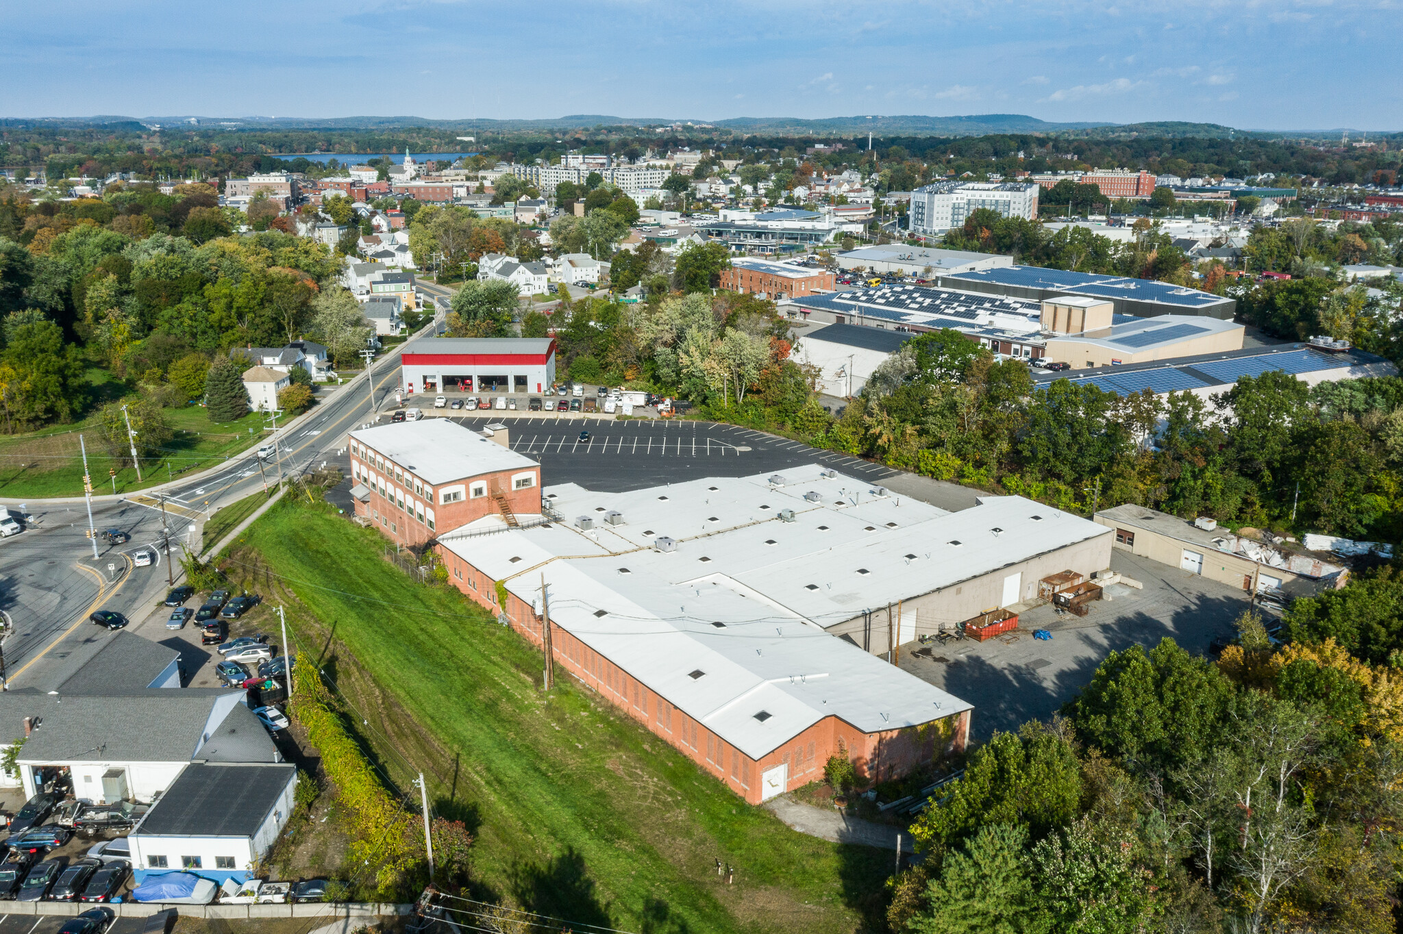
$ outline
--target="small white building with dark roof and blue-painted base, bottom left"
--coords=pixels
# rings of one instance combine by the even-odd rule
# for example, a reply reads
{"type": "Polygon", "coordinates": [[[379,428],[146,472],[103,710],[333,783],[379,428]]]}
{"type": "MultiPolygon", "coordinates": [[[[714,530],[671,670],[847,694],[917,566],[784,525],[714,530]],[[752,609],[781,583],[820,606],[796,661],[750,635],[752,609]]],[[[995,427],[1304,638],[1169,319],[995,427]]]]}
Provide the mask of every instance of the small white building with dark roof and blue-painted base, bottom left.
{"type": "Polygon", "coordinates": [[[132,830],[136,881],[195,872],[223,882],[250,878],[296,806],[292,763],[189,763],[132,830]]]}

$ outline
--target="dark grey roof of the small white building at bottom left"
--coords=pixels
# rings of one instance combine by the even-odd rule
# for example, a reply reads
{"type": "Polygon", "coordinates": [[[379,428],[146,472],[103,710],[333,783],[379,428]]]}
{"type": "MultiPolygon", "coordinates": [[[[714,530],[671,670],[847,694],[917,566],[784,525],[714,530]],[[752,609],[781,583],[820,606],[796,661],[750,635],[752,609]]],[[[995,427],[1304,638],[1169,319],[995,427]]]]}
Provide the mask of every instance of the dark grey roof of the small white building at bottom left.
{"type": "Polygon", "coordinates": [[[290,763],[185,766],[132,836],[251,837],[296,774],[290,763]]]}

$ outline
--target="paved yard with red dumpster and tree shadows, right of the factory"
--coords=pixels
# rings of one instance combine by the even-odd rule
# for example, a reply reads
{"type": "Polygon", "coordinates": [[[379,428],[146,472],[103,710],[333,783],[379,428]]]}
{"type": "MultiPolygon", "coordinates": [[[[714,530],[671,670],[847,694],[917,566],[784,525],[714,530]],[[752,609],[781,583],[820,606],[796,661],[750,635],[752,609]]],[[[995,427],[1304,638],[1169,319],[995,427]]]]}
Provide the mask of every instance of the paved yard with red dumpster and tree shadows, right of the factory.
{"type": "Polygon", "coordinates": [[[974,704],[971,733],[985,740],[995,731],[1051,717],[1108,652],[1149,649],[1169,637],[1193,654],[1207,654],[1208,644],[1232,634],[1232,621],[1247,609],[1240,589],[1127,551],[1111,553],[1111,569],[1139,581],[1143,590],[1111,585],[1106,590],[1111,600],[1090,604],[1085,617],[1038,606],[1020,614],[1016,632],[986,642],[908,642],[901,647],[901,668],[974,704]],[[1038,628],[1052,639],[1034,639],[1038,628]]]}

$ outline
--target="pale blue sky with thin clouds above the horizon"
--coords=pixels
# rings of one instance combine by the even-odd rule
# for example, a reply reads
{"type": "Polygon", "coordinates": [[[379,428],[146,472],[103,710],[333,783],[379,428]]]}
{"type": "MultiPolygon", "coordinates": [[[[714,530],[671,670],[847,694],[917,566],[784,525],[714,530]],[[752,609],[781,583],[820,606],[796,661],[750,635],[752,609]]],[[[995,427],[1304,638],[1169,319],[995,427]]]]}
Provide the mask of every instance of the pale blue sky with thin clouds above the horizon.
{"type": "Polygon", "coordinates": [[[28,4],[3,116],[1027,114],[1403,129],[1403,0],[28,4]]]}

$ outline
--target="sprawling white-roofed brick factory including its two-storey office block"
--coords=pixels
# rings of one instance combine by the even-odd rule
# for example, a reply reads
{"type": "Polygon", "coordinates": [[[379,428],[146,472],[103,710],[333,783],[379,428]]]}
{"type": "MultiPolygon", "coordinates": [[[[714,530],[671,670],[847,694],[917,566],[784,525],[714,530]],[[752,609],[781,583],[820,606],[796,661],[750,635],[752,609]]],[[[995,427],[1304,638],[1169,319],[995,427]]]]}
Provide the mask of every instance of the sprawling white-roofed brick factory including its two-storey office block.
{"type": "Polygon", "coordinates": [[[1049,506],[948,513],[818,464],[622,494],[512,482],[504,505],[491,477],[526,471],[446,432],[474,435],[448,419],[354,433],[376,471],[358,478],[379,496],[394,477],[403,522],[422,489],[455,586],[751,802],[832,754],[888,780],[962,750],[971,705],[888,663],[899,647],[1110,562],[1110,529],[1049,506]],[[445,477],[469,494],[487,477],[487,495],[450,517],[445,477]]]}

